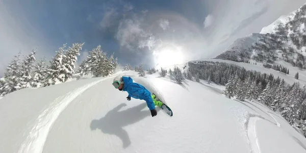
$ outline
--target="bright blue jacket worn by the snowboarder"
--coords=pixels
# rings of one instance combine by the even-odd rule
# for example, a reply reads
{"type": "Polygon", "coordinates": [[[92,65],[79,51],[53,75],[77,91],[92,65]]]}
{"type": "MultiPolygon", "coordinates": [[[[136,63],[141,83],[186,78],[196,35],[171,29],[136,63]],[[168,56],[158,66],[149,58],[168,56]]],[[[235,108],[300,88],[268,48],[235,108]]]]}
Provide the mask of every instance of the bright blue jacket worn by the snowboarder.
{"type": "Polygon", "coordinates": [[[129,93],[129,97],[145,100],[150,110],[155,109],[150,91],[138,83],[133,83],[131,77],[122,77],[122,79],[124,82],[123,91],[129,93]]]}

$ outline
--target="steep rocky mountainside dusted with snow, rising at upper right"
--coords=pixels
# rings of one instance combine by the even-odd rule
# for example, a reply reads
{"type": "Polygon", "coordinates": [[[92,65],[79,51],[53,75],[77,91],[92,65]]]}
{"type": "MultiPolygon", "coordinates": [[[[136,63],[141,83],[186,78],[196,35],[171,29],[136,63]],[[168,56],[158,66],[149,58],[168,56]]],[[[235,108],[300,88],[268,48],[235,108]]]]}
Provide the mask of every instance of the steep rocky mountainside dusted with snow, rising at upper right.
{"type": "Polygon", "coordinates": [[[236,40],[216,59],[274,64],[286,61],[293,66],[306,69],[306,4],[289,15],[278,18],[264,27],[260,34],[236,40]]]}

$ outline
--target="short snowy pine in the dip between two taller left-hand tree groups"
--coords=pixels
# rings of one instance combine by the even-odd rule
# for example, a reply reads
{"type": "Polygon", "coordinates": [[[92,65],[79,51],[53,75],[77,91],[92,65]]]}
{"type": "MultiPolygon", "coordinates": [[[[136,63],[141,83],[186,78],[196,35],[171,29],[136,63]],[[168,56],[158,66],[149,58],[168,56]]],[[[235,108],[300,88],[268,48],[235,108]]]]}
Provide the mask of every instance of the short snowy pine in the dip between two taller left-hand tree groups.
{"type": "Polygon", "coordinates": [[[47,74],[47,67],[45,65],[45,59],[41,59],[35,65],[34,70],[34,77],[33,77],[33,87],[39,88],[41,84],[45,81],[46,74],[47,74]]]}

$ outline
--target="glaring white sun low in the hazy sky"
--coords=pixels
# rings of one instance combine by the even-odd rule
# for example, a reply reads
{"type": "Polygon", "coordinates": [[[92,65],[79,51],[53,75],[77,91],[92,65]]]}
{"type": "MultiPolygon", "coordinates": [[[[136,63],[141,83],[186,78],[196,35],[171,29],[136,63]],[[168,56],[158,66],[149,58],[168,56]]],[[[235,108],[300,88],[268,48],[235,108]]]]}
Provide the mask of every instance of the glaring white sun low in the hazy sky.
{"type": "Polygon", "coordinates": [[[155,50],[155,63],[158,67],[167,67],[184,62],[182,47],[168,45],[155,50]]]}

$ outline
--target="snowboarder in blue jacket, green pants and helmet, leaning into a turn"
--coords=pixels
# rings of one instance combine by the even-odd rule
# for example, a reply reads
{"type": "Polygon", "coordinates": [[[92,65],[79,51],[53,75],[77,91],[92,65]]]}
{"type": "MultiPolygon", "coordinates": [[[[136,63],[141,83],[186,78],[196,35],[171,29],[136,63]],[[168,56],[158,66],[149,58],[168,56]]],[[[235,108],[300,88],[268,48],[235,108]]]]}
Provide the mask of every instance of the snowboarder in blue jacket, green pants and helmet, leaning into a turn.
{"type": "Polygon", "coordinates": [[[131,100],[131,97],[145,100],[152,117],[157,115],[155,106],[161,107],[163,105],[163,103],[158,99],[156,100],[156,96],[154,94],[151,95],[150,91],[145,87],[138,83],[134,83],[131,77],[118,75],[114,78],[113,86],[120,91],[126,91],[129,93],[126,97],[127,100],[131,100]]]}

